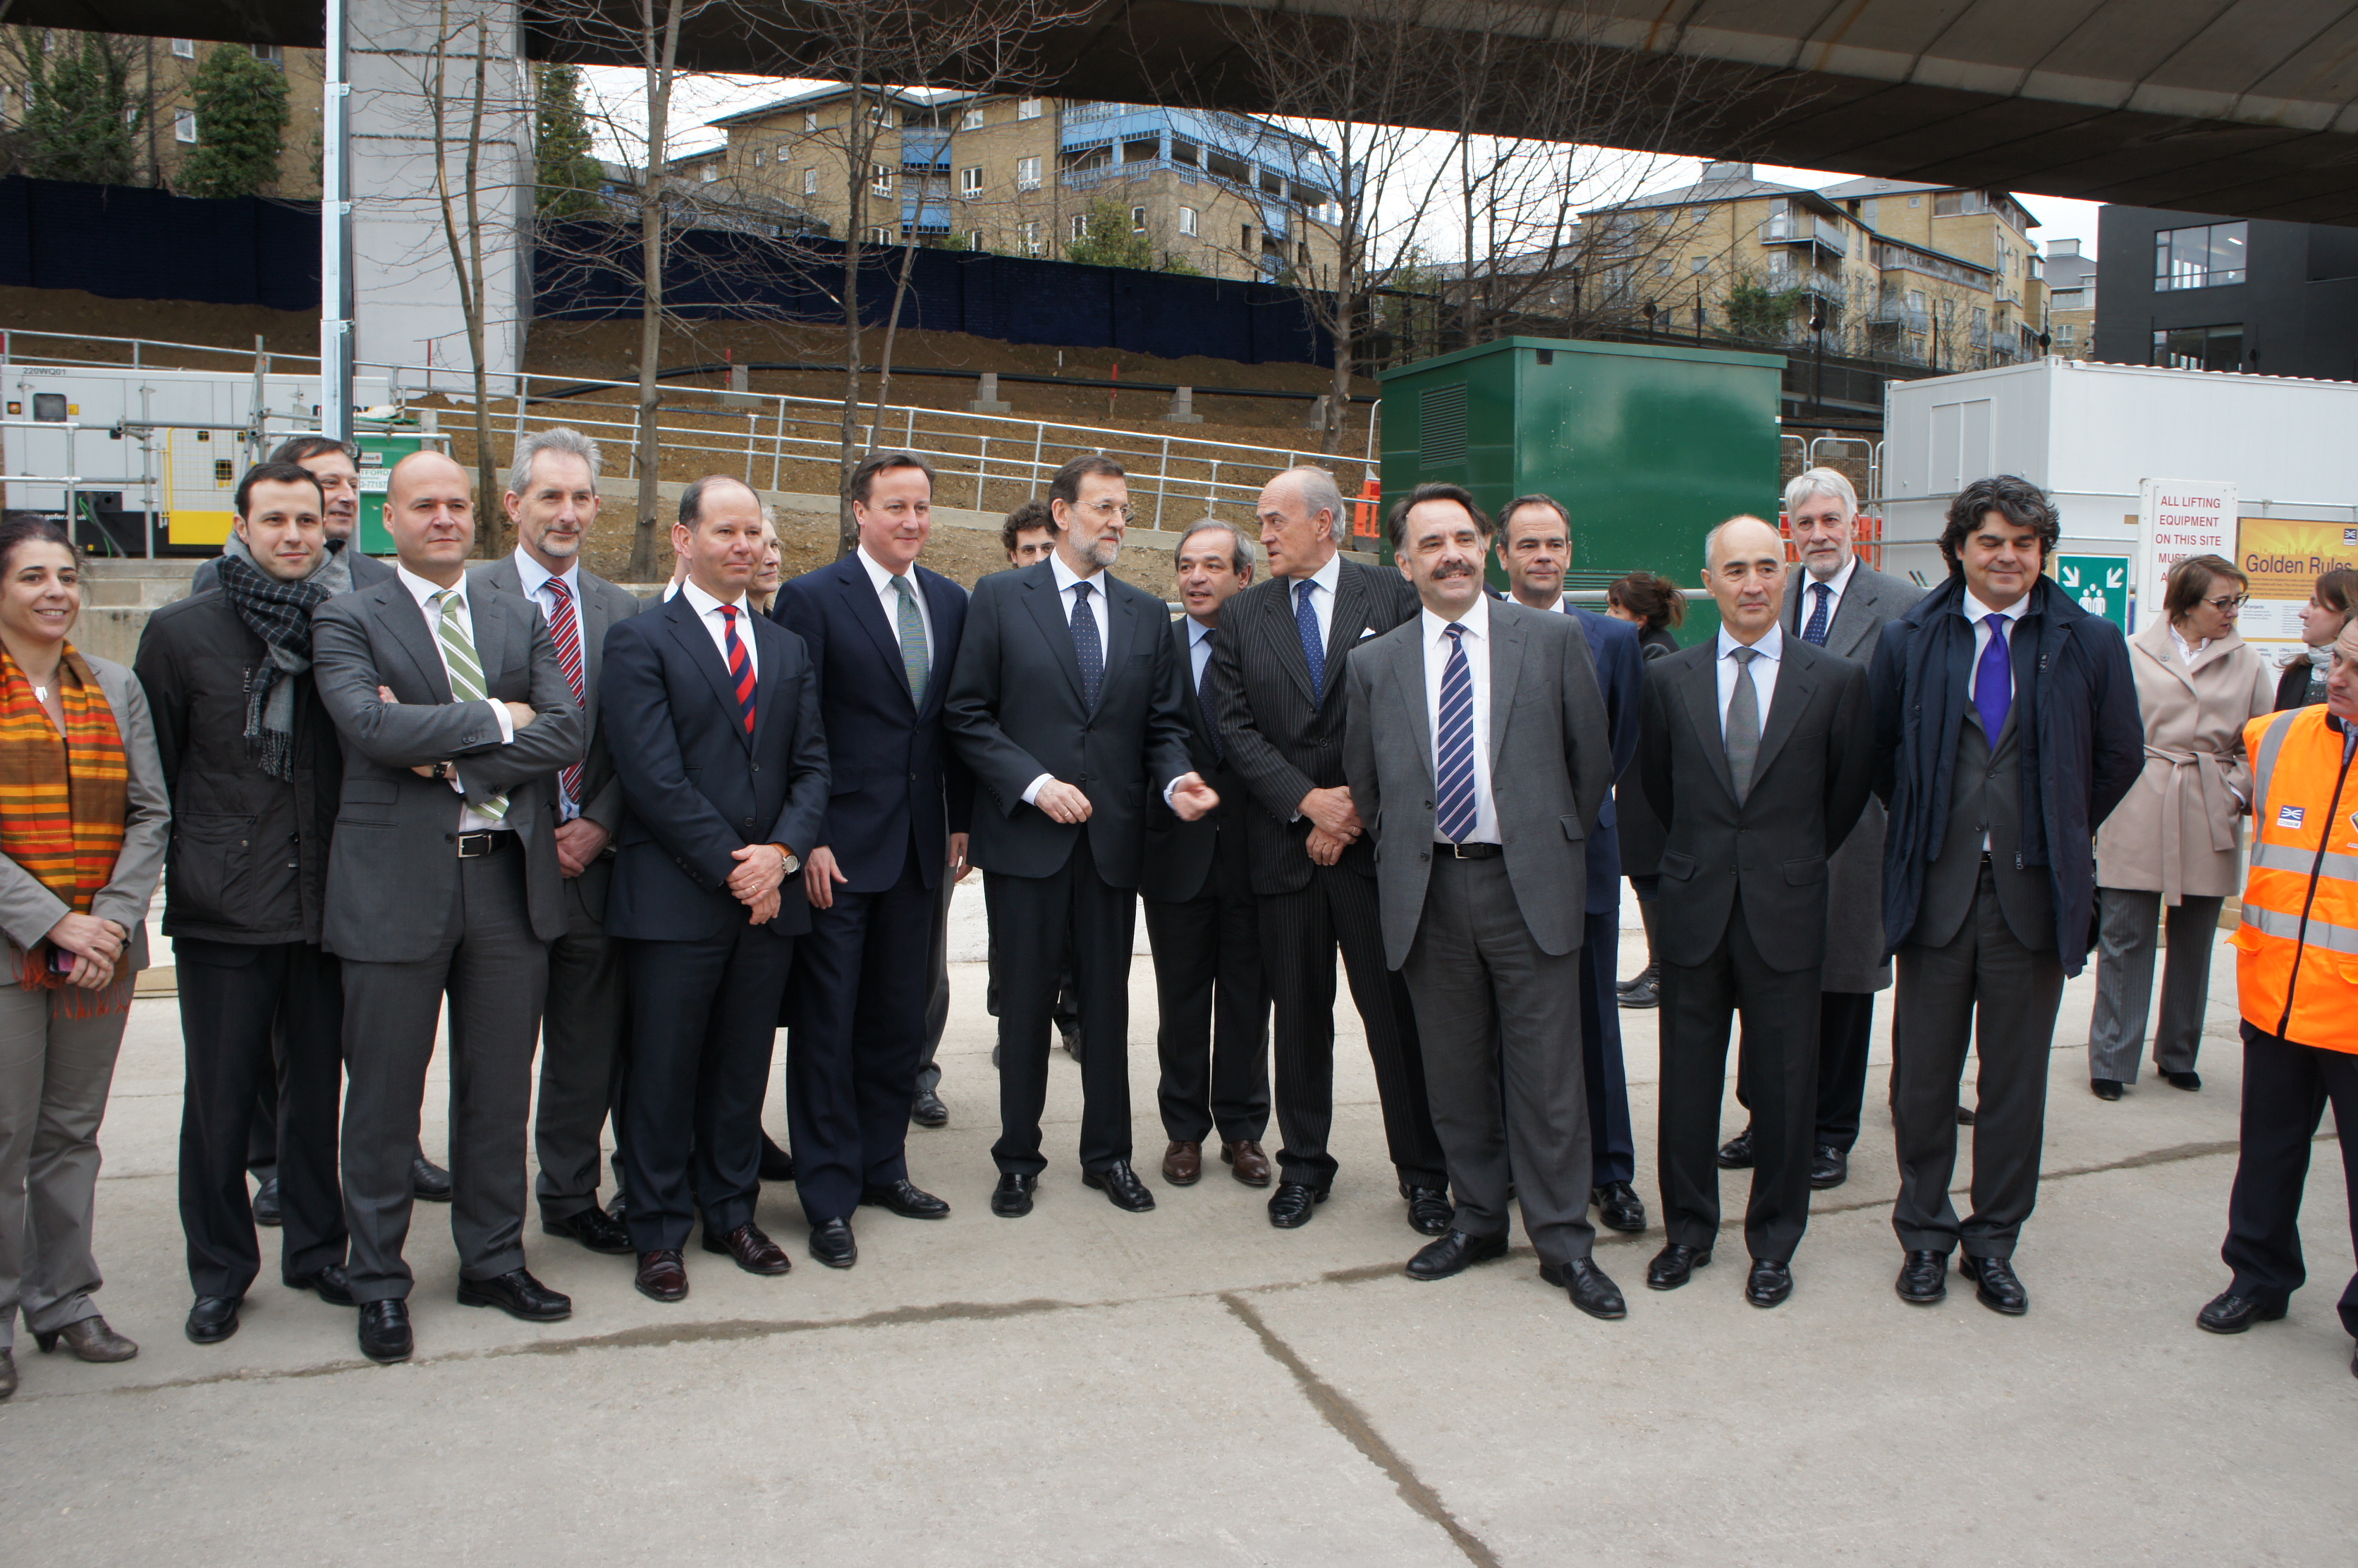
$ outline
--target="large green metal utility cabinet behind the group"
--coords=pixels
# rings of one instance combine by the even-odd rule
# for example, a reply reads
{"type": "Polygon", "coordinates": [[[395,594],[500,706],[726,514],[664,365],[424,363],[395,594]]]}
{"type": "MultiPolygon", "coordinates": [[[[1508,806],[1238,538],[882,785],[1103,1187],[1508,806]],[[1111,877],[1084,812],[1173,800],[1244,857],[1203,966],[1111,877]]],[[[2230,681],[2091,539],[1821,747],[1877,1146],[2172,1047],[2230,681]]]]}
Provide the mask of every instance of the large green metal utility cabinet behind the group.
{"type": "Polygon", "coordinates": [[[1493,516],[1516,495],[1554,495],[1573,516],[1566,587],[1662,573],[1686,589],[1679,641],[1693,644],[1719,625],[1700,592],[1702,535],[1738,512],[1778,514],[1783,373],[1778,354],[1568,337],[1387,370],[1384,509],[1420,483],[1460,483],[1493,516]]]}

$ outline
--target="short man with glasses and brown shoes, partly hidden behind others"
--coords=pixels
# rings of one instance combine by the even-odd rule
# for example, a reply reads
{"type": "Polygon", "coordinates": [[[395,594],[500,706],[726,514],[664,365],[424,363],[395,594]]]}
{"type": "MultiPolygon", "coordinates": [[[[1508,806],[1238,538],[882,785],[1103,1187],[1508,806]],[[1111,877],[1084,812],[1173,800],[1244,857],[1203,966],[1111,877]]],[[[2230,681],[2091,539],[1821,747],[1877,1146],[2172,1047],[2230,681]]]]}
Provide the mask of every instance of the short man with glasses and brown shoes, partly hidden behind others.
{"type": "Polygon", "coordinates": [[[1252,582],[1252,540],[1236,523],[1203,519],[1172,552],[1179,604],[1172,639],[1186,658],[1188,755],[1219,792],[1219,809],[1193,823],[1167,811],[1146,828],[1146,941],[1155,950],[1155,1052],[1162,1061],[1162,1179],[1203,1179],[1203,1141],[1219,1127],[1219,1158],[1245,1186],[1269,1186],[1269,986],[1262,979],[1262,917],[1245,846],[1243,783],[1229,773],[1212,722],[1212,648],[1219,608],[1252,582]]]}

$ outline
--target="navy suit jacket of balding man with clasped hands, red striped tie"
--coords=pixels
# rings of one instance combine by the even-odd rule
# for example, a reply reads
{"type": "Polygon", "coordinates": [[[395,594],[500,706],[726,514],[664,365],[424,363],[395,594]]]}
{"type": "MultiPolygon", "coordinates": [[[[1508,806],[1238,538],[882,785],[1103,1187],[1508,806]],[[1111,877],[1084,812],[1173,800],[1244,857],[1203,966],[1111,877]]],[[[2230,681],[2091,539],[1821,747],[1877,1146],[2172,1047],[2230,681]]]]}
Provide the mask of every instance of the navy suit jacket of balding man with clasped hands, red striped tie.
{"type": "MultiPolygon", "coordinates": [[[[828,816],[828,731],[802,639],[745,615],[755,646],[755,733],[738,719],[722,651],[686,594],[618,620],[606,632],[599,719],[623,780],[606,934],[705,941],[747,910],[729,891],[745,844],[804,856],[828,816]]],[[[778,913],[757,931],[811,929],[802,877],[778,889],[778,913]]]]}

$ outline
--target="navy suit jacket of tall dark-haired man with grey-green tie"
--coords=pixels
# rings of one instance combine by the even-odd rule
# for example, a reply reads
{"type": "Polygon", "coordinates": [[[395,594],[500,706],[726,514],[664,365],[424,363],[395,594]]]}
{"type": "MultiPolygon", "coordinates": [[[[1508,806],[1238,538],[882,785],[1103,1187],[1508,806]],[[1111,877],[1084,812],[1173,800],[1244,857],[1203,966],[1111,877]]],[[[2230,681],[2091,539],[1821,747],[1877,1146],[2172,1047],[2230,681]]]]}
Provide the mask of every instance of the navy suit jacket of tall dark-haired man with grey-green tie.
{"type": "Polygon", "coordinates": [[[934,622],[922,707],[910,700],[898,634],[856,554],[792,578],[769,611],[802,637],[818,674],[830,769],[818,842],[835,851],[854,894],[882,894],[901,879],[910,835],[917,875],[941,887],[948,835],[967,832],[974,816],[974,776],[941,736],[967,589],[924,566],[910,571],[934,622]]]}

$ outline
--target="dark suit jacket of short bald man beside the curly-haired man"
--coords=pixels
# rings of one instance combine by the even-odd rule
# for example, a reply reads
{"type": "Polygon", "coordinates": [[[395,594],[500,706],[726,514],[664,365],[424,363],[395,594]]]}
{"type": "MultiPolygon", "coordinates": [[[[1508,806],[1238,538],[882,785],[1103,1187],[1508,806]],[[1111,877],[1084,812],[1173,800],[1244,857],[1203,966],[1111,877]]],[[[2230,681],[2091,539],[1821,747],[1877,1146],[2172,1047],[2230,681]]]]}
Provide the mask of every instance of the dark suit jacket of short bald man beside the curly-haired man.
{"type": "Polygon", "coordinates": [[[1827,858],[1875,783],[1868,670],[1787,637],[1761,717],[1752,788],[1735,799],[1719,733],[1719,639],[1646,670],[1639,778],[1667,828],[1653,946],[1705,962],[1743,891],[1745,929],[1771,969],[1825,962],[1827,858]]]}

